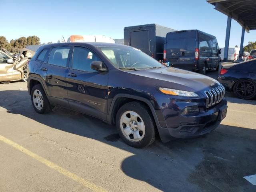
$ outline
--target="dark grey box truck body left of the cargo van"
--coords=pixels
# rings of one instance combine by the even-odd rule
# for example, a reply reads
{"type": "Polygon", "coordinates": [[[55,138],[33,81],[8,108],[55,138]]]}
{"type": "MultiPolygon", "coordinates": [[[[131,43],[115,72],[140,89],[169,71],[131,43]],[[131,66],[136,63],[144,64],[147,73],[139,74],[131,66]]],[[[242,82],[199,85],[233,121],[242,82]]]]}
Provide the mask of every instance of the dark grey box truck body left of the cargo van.
{"type": "Polygon", "coordinates": [[[138,48],[156,60],[163,60],[164,41],[168,32],[176,31],[158,24],[124,28],[124,44],[138,48]]]}

